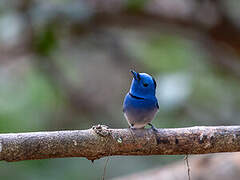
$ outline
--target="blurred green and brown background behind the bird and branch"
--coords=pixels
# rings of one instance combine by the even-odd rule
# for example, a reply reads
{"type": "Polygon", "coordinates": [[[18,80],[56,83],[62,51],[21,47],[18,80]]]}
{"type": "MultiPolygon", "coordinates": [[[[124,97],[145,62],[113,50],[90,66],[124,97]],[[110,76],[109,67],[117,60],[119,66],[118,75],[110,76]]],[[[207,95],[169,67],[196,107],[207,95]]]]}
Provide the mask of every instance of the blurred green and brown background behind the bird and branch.
{"type": "MultiPolygon", "coordinates": [[[[130,69],[157,80],[159,128],[237,125],[240,4],[1,0],[0,132],[127,128],[130,69]]],[[[183,156],[111,157],[106,179],[183,156]]],[[[0,162],[0,177],[100,179],[105,159],[0,162]]]]}

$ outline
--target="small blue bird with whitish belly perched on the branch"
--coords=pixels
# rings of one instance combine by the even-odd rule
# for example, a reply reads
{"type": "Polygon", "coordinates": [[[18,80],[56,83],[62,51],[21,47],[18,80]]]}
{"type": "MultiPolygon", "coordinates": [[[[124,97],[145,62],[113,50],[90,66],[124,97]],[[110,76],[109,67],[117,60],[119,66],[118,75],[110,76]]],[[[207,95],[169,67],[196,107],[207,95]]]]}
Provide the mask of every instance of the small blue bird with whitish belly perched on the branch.
{"type": "Polygon", "coordinates": [[[130,70],[133,79],[129,92],[123,102],[123,113],[131,129],[141,129],[150,125],[154,131],[157,129],[151,124],[159,105],[156,98],[157,83],[147,73],[138,73],[130,70]]]}

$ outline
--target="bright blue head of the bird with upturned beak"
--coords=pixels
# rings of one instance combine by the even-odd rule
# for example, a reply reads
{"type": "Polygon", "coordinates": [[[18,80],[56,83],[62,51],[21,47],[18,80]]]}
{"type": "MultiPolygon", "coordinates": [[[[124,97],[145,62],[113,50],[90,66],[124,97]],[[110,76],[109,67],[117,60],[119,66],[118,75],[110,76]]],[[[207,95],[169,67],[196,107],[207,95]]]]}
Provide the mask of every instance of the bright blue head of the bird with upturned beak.
{"type": "Polygon", "coordinates": [[[130,71],[133,75],[133,80],[130,88],[130,93],[139,97],[155,96],[156,81],[147,73],[137,73],[130,71]]]}

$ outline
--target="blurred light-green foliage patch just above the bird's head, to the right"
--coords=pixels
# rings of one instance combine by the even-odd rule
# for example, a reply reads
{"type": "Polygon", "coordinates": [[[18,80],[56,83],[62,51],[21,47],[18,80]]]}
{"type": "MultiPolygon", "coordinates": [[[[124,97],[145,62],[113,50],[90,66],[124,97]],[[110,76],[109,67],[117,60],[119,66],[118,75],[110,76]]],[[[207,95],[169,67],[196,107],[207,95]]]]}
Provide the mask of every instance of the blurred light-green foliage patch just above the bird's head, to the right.
{"type": "Polygon", "coordinates": [[[144,64],[156,72],[176,72],[188,70],[192,57],[197,53],[192,50],[191,43],[179,36],[166,34],[154,37],[148,42],[134,42],[134,53],[144,64]]]}

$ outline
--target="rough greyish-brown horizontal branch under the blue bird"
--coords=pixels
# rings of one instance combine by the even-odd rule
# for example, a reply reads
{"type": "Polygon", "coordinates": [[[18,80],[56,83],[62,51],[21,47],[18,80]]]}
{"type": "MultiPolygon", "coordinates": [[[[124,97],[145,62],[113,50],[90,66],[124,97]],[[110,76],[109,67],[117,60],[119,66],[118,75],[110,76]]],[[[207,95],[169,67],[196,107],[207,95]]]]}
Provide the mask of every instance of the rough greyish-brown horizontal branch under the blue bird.
{"type": "Polygon", "coordinates": [[[180,155],[240,151],[240,126],[108,129],[0,134],[0,160],[114,155],[180,155]]]}

